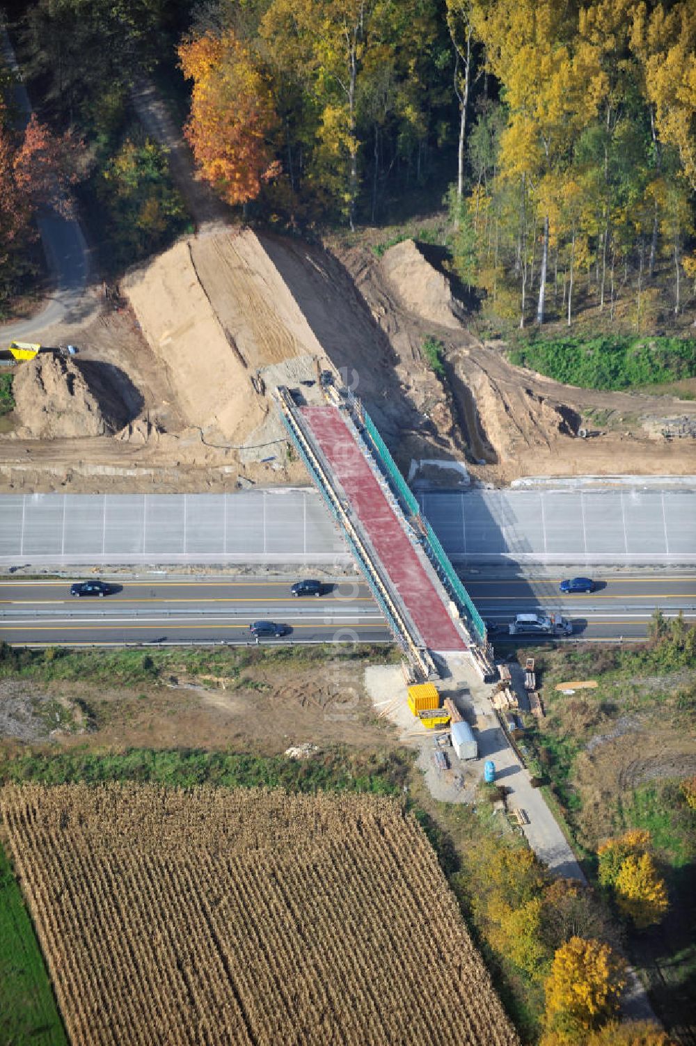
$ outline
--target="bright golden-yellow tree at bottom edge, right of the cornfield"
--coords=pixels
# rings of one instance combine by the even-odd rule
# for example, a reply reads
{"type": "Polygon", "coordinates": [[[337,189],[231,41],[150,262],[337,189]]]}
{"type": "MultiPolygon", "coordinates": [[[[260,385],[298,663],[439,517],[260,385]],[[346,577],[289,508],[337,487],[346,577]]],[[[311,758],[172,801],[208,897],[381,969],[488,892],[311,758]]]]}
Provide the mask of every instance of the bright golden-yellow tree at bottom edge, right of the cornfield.
{"type": "Polygon", "coordinates": [[[570,937],[557,950],[545,985],[547,1031],[571,1042],[605,1024],[618,1011],[625,970],[608,945],[570,937]]]}

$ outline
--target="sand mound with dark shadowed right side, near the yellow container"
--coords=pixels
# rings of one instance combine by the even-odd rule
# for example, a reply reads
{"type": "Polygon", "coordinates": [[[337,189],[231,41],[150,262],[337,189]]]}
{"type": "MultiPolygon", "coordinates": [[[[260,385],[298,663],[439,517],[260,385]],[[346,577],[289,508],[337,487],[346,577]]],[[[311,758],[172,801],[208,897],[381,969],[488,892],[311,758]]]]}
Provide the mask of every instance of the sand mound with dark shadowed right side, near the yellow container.
{"type": "Polygon", "coordinates": [[[129,418],[117,392],[93,388],[73,360],[48,354],[22,364],[13,395],[21,438],[111,435],[129,418]]]}

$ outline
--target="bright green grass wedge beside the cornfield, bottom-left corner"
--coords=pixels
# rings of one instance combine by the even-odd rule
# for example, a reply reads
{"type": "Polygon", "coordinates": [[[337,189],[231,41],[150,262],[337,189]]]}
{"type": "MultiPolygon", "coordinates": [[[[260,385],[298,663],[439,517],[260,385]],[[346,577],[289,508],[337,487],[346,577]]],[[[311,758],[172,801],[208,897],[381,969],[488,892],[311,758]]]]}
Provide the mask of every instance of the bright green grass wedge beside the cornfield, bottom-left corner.
{"type": "Polygon", "coordinates": [[[0,1042],[67,1046],[19,885],[0,848],[0,1042]]]}

